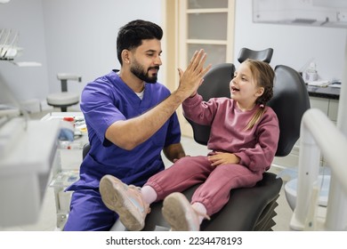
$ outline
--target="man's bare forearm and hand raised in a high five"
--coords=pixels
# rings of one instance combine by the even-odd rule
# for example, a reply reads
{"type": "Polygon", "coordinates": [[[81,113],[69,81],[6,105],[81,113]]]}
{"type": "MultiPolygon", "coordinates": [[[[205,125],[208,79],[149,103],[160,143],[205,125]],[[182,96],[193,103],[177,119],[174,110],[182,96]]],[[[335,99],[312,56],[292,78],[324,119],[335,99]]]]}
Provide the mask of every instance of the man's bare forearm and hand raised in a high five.
{"type": "Polygon", "coordinates": [[[203,77],[211,68],[211,65],[204,68],[205,61],[206,52],[203,50],[195,52],[187,69],[183,72],[179,68],[180,84],[176,91],[141,116],[120,120],[112,124],[106,131],[106,138],[126,150],[134,149],[142,142],[147,141],[167,122],[184,100],[196,94],[203,77]]]}

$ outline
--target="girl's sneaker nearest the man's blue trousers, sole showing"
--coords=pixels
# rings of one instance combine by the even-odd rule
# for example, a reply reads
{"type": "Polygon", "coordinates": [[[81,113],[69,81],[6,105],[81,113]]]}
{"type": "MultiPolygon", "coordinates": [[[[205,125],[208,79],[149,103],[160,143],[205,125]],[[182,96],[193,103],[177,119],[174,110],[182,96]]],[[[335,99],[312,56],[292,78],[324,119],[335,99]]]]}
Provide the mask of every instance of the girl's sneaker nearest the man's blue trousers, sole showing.
{"type": "Polygon", "coordinates": [[[99,190],[102,202],[110,210],[118,213],[119,220],[126,229],[143,229],[150,209],[142,198],[140,188],[128,186],[112,175],[105,175],[101,178],[99,190]]]}

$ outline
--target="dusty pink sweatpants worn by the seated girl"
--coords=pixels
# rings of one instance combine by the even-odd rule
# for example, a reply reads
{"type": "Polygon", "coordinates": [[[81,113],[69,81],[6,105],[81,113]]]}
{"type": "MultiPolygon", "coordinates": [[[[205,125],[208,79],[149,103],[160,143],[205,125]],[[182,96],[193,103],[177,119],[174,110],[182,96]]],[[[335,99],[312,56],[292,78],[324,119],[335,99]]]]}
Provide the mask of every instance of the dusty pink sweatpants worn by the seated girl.
{"type": "Polygon", "coordinates": [[[191,204],[205,205],[207,214],[222,209],[230,198],[230,190],[253,187],[262,180],[262,172],[252,172],[243,165],[211,166],[207,157],[182,157],[168,169],[155,174],[145,185],[157,192],[157,201],[173,192],[202,183],[193,194],[191,204]]]}

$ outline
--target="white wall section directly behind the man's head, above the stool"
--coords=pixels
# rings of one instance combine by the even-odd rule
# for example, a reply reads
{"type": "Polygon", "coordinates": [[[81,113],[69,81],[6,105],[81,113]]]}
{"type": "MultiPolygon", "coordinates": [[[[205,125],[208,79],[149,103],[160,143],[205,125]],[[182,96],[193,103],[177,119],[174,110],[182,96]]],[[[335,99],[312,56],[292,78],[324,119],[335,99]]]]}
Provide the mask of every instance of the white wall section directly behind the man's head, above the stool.
{"type": "Polygon", "coordinates": [[[160,25],[160,0],[44,0],[50,92],[60,90],[57,73],[82,75],[82,84],[69,83],[81,92],[98,76],[119,68],[117,31],[130,20],[151,20],[160,25]]]}

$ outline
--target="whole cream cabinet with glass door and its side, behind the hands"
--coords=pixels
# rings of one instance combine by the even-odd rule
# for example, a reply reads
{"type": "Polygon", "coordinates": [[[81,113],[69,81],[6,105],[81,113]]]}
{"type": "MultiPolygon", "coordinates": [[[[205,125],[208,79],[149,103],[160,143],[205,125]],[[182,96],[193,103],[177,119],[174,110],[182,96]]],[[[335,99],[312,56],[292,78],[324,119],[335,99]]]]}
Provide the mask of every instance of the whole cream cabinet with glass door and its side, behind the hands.
{"type": "MultiPolygon", "coordinates": [[[[165,2],[166,82],[179,84],[176,68],[186,68],[195,51],[204,49],[206,65],[233,62],[235,0],[170,0],[165,2]],[[168,34],[168,35],[167,35],[168,34]]],[[[172,84],[170,84],[172,83],[172,84]]],[[[191,125],[178,108],[182,135],[192,137],[191,125]]]]}

